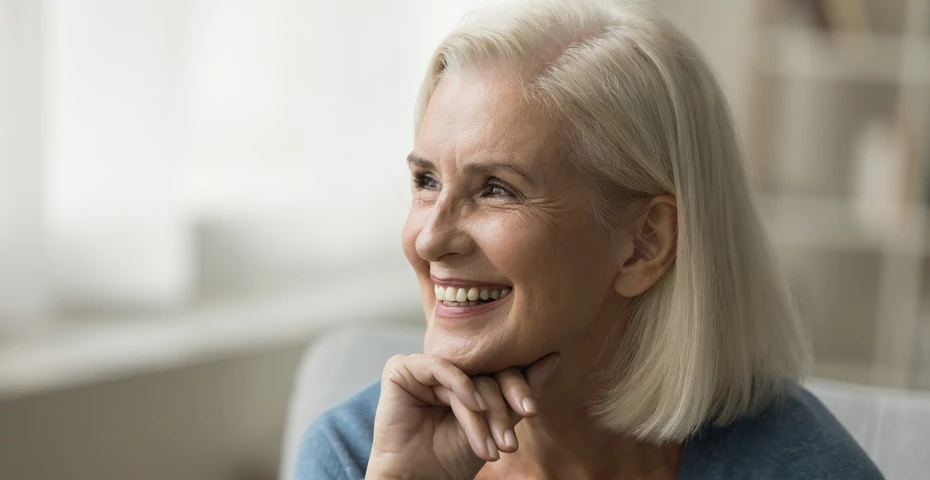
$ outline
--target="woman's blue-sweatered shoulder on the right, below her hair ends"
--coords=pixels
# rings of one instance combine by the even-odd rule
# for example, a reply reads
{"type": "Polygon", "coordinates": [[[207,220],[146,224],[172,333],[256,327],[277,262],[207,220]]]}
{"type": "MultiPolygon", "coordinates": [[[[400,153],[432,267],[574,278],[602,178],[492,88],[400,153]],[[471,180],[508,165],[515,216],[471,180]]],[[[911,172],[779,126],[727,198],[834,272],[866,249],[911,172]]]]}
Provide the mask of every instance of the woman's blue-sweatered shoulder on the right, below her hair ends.
{"type": "Polygon", "coordinates": [[[802,388],[759,415],[696,434],[686,443],[680,478],[884,477],[833,414],[802,388]]]}

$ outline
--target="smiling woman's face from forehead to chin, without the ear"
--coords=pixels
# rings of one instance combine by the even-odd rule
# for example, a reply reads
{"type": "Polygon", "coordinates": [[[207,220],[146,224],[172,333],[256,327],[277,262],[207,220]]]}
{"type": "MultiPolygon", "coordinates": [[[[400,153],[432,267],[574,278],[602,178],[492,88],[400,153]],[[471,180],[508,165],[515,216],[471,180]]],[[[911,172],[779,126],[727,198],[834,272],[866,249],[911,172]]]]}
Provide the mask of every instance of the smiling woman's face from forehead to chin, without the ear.
{"type": "Polygon", "coordinates": [[[403,246],[423,295],[425,353],[490,373],[591,348],[595,323],[620,321],[618,255],[593,216],[590,180],[515,81],[444,78],[409,163],[403,246]]]}

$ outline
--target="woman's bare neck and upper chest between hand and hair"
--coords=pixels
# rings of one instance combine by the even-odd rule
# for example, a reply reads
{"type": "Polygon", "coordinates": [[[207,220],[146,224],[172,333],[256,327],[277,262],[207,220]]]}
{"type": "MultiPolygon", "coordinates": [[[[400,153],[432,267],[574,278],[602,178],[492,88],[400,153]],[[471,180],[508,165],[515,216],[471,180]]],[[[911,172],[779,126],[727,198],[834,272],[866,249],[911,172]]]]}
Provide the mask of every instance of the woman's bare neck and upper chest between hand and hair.
{"type": "Polygon", "coordinates": [[[500,478],[677,477],[681,444],[656,445],[611,432],[589,411],[590,402],[607,387],[608,379],[597,373],[612,366],[624,333],[617,325],[614,320],[595,326],[562,350],[539,399],[539,415],[516,427],[519,450],[488,464],[489,473],[506,473],[500,478]]]}

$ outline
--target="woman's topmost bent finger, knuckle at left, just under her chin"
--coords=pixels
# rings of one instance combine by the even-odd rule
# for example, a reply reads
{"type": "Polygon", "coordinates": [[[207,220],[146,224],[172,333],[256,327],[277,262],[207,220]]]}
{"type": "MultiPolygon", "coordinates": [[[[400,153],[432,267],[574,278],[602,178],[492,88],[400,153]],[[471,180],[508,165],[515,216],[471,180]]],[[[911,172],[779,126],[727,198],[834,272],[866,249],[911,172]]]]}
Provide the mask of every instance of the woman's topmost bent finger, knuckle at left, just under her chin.
{"type": "Polygon", "coordinates": [[[471,378],[441,358],[395,355],[384,367],[384,380],[394,382],[417,400],[429,405],[449,405],[436,396],[433,388],[442,386],[454,393],[459,402],[472,411],[483,412],[488,408],[471,378]]]}

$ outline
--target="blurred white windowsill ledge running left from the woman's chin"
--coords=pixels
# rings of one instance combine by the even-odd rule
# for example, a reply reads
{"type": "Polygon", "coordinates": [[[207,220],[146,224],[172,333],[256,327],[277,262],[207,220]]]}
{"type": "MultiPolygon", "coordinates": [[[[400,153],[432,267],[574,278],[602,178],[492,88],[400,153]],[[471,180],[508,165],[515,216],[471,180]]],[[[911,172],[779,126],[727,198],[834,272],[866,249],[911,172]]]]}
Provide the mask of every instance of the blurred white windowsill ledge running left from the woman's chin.
{"type": "Polygon", "coordinates": [[[337,325],[421,319],[416,279],[406,268],[164,317],[81,321],[0,341],[0,400],[299,345],[337,325]]]}

